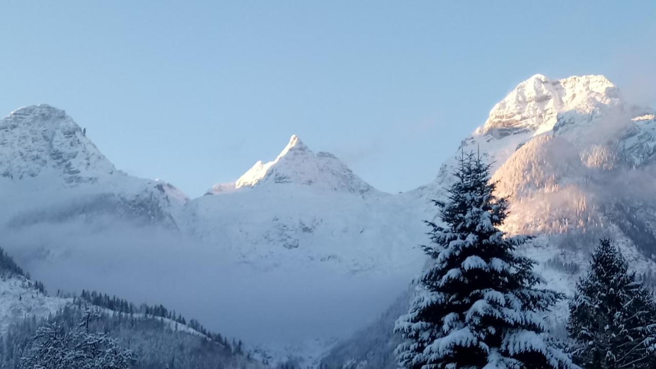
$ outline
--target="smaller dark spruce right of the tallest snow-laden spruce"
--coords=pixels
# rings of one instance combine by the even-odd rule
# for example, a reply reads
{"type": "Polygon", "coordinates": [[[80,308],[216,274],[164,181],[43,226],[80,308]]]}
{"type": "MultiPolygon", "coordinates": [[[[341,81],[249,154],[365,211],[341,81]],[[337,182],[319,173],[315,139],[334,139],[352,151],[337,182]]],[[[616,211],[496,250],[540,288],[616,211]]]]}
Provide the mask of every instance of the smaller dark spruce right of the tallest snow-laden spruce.
{"type": "Polygon", "coordinates": [[[574,359],[584,368],[656,368],[653,294],[609,240],[594,250],[590,271],[569,304],[574,359]]]}

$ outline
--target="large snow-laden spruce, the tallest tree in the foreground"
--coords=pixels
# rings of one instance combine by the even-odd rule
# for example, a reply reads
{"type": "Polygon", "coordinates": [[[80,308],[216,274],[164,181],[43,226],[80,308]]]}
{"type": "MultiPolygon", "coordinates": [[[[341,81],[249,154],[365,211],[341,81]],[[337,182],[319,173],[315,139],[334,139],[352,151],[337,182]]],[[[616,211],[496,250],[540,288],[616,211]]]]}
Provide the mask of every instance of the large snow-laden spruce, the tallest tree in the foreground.
{"type": "Polygon", "coordinates": [[[537,288],[533,261],[518,255],[525,237],[499,230],[508,213],[493,195],[489,165],[462,154],[456,181],[440,207],[441,223],[426,222],[432,259],[415,281],[416,296],[396,322],[405,369],[576,368],[548,337],[547,311],[560,295],[537,288]]]}

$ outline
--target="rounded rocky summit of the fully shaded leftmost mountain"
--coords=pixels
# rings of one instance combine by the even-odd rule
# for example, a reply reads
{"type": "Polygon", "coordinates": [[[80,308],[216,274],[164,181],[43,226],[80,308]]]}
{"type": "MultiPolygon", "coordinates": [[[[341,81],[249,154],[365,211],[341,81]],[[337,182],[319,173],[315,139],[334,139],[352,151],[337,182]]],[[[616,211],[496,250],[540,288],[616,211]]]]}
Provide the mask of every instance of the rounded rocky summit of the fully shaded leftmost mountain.
{"type": "Polygon", "coordinates": [[[20,108],[0,120],[0,176],[20,180],[51,173],[68,184],[116,171],[64,110],[20,108]]]}

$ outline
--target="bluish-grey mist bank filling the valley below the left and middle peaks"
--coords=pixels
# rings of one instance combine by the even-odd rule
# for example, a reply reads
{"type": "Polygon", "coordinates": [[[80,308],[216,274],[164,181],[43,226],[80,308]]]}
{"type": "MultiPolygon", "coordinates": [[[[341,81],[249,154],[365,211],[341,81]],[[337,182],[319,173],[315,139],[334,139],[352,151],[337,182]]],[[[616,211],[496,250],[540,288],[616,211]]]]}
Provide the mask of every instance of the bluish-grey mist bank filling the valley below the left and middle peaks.
{"type": "Polygon", "coordinates": [[[409,282],[343,275],[321,263],[262,270],[234,263],[221,245],[155,227],[41,223],[2,235],[0,244],[51,294],[97,290],[161,303],[251,345],[346,337],[373,321],[409,282]]]}

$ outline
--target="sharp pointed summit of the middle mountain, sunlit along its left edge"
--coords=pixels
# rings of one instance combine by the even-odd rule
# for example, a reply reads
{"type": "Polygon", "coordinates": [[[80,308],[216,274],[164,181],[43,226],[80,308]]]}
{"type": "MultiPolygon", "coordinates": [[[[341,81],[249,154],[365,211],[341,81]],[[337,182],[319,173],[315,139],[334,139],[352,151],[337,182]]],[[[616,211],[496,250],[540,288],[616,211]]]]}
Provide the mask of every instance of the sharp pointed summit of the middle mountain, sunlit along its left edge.
{"type": "Polygon", "coordinates": [[[234,183],[215,185],[208,193],[219,194],[283,183],[357,194],[375,190],[333,154],[315,153],[297,135],[292,135],[275,160],[266,163],[258,161],[234,183]]]}

